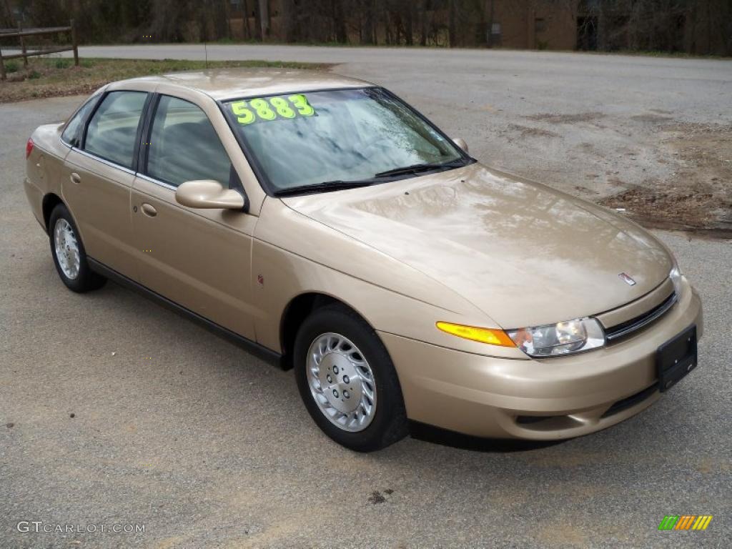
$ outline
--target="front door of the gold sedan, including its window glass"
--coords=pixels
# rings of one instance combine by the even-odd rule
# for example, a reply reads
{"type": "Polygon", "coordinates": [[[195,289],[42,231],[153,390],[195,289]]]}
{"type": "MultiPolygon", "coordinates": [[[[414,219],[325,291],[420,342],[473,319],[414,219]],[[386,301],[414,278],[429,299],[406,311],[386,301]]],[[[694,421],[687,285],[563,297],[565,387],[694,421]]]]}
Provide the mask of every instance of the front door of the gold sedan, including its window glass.
{"type": "MultiPolygon", "coordinates": [[[[193,102],[159,95],[132,185],[132,234],[140,282],[171,301],[250,340],[252,234],[257,217],[176,202],[179,184],[241,182],[214,127],[193,102]]],[[[243,193],[243,190],[242,190],[243,193]]]]}

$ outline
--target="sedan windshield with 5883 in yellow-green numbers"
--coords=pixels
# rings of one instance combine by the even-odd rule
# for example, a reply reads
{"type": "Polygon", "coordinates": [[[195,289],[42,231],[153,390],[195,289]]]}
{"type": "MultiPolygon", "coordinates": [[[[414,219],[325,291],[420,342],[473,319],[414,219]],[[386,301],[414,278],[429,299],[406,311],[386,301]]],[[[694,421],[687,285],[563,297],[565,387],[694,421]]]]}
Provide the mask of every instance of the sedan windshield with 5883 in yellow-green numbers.
{"type": "Polygon", "coordinates": [[[471,162],[455,143],[380,88],[312,91],[224,105],[231,126],[275,194],[391,181],[471,162]],[[397,173],[388,173],[392,171],[397,173]]]}

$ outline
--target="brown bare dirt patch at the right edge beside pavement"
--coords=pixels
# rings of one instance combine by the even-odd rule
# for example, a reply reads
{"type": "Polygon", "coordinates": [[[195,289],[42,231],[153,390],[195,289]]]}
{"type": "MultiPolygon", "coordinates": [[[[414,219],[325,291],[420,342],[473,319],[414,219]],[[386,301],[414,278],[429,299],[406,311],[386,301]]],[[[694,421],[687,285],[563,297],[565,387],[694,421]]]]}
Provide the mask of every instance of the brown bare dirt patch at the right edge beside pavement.
{"type": "Polygon", "coordinates": [[[671,179],[645,179],[602,205],[646,227],[732,238],[732,124],[676,124],[663,135],[677,163],[671,179]]]}

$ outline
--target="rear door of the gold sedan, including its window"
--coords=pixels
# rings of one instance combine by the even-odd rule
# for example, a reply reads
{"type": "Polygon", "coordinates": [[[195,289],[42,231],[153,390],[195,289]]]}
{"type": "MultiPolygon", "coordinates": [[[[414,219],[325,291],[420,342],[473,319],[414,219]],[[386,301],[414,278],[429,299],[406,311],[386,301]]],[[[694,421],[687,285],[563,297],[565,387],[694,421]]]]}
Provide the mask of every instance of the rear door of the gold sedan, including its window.
{"type": "Polygon", "coordinates": [[[111,91],[75,139],[61,173],[61,194],[89,257],[136,278],[130,191],[149,94],[111,91]]]}

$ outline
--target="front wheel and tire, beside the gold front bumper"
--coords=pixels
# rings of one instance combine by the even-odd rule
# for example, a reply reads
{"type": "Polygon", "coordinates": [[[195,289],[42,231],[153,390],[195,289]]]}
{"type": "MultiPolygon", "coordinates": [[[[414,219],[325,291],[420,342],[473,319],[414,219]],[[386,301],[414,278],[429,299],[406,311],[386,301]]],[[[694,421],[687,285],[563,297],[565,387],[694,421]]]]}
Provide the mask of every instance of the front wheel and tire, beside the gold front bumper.
{"type": "Polygon", "coordinates": [[[353,311],[329,305],[311,313],[297,333],[294,361],[305,408],[338,444],[356,452],[373,452],[407,435],[406,410],[392,359],[376,332],[353,311]],[[309,362],[311,351],[319,364],[315,358],[309,362]],[[354,411],[348,411],[354,406],[354,411]]]}

